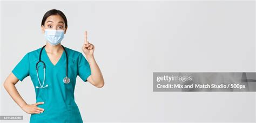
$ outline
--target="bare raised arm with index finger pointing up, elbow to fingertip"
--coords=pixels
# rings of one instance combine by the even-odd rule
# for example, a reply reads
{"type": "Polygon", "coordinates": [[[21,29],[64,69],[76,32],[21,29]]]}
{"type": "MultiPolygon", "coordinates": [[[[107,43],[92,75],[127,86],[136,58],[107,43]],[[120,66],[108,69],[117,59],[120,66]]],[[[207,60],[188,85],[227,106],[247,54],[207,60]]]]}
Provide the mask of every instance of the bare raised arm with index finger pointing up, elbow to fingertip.
{"type": "Polygon", "coordinates": [[[98,88],[102,88],[104,86],[104,79],[102,72],[100,71],[99,66],[95,61],[95,57],[93,55],[94,49],[95,46],[87,41],[87,31],[85,31],[85,39],[82,50],[91,68],[91,75],[87,78],[87,81],[97,86],[98,88]]]}

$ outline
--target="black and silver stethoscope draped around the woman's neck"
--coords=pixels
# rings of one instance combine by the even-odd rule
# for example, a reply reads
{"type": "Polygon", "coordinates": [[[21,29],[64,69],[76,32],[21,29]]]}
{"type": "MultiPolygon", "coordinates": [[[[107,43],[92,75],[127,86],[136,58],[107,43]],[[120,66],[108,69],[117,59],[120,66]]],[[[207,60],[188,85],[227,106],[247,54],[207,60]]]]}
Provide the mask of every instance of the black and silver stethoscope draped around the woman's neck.
{"type": "MultiPolygon", "coordinates": [[[[37,89],[41,89],[41,88],[46,88],[46,87],[48,87],[48,84],[46,84],[46,85],[44,86],[44,81],[43,81],[43,84],[41,84],[41,82],[40,82],[40,80],[39,80],[38,68],[37,68],[38,63],[42,62],[42,63],[43,63],[43,67],[44,67],[44,80],[45,80],[45,63],[44,63],[44,61],[41,60],[42,50],[43,50],[43,48],[44,48],[45,46],[46,46],[46,45],[44,45],[44,46],[42,47],[42,49],[41,49],[41,51],[40,51],[40,54],[39,54],[39,61],[36,63],[37,79],[38,79],[38,82],[39,82],[39,84],[40,84],[40,87],[36,86],[37,89]]],[[[66,50],[65,50],[65,48],[64,48],[63,45],[62,45],[62,47],[63,47],[63,49],[64,49],[64,51],[65,51],[65,54],[66,54],[66,77],[63,78],[63,82],[64,82],[65,84],[69,84],[69,83],[70,83],[70,79],[69,79],[69,77],[68,77],[68,61],[69,61],[69,60],[68,60],[68,54],[66,53],[66,50]]]]}

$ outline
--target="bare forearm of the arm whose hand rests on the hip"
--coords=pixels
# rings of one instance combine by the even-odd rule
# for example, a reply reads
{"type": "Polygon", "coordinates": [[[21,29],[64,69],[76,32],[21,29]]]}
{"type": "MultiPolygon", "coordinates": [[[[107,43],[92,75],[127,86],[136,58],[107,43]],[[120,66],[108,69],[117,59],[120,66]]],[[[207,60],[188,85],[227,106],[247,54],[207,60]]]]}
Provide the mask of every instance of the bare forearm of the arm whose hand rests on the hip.
{"type": "Polygon", "coordinates": [[[26,102],[21,97],[21,95],[19,95],[19,93],[18,93],[14,84],[5,82],[4,83],[4,88],[9,93],[11,98],[14,99],[14,101],[19,105],[19,107],[22,108],[24,105],[26,105],[26,102]]]}

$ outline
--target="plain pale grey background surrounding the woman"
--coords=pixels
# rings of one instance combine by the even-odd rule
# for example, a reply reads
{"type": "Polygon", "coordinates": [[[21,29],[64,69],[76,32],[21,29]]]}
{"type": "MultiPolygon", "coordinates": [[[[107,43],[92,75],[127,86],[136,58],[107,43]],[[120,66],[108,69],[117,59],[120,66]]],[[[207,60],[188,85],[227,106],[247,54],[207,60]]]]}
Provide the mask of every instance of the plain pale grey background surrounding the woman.
{"type": "MultiPolygon", "coordinates": [[[[22,57],[46,41],[46,11],[62,10],[62,44],[82,52],[84,30],[95,45],[104,88],[77,77],[83,120],[255,122],[255,92],[153,92],[153,72],[255,72],[253,1],[1,2],[1,83],[22,57]]],[[[2,85],[2,84],[1,84],[2,85]]],[[[30,77],[16,87],[35,103],[30,77]]],[[[26,114],[1,89],[1,115],[26,114]]]]}

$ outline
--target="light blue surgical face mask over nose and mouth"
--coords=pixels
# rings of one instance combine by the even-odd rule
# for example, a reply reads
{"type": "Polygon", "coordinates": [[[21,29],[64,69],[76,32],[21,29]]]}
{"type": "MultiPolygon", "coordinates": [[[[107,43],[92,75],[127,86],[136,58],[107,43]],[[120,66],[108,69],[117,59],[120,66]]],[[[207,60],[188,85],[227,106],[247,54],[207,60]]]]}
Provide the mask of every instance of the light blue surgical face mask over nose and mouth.
{"type": "Polygon", "coordinates": [[[52,45],[58,45],[64,38],[64,30],[44,30],[45,39],[52,45]]]}

